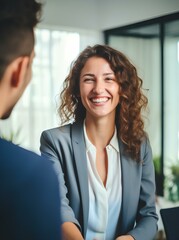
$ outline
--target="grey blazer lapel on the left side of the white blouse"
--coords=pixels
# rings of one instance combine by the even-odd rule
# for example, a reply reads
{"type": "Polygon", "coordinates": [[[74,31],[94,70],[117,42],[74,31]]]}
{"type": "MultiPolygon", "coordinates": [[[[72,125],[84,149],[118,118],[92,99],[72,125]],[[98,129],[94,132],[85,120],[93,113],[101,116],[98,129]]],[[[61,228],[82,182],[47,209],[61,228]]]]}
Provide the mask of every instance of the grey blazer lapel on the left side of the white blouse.
{"type": "Polygon", "coordinates": [[[74,123],[72,125],[72,146],[74,150],[74,159],[79,180],[80,194],[83,209],[84,235],[87,230],[88,210],[89,210],[89,191],[88,191],[88,173],[85,142],[83,135],[83,123],[74,123]]]}

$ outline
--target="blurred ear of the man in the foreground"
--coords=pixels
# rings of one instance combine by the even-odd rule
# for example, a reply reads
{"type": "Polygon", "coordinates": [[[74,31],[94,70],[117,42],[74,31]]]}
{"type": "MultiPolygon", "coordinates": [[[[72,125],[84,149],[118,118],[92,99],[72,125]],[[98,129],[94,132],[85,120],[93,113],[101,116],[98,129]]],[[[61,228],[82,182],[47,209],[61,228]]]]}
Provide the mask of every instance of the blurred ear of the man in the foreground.
{"type": "Polygon", "coordinates": [[[11,86],[18,87],[24,81],[29,57],[19,57],[12,64],[11,86]]]}

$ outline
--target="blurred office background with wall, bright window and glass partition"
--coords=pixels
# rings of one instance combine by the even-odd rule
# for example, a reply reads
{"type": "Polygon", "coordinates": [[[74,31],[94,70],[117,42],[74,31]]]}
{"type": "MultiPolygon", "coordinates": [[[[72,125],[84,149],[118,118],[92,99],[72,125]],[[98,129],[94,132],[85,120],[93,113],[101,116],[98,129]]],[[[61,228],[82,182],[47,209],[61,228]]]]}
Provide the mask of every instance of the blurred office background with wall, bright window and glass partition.
{"type": "Polygon", "coordinates": [[[57,107],[71,62],[88,45],[126,54],[149,99],[146,131],[157,194],[179,200],[179,1],[44,0],[33,78],[1,135],[39,153],[41,132],[60,125],[57,107]]]}

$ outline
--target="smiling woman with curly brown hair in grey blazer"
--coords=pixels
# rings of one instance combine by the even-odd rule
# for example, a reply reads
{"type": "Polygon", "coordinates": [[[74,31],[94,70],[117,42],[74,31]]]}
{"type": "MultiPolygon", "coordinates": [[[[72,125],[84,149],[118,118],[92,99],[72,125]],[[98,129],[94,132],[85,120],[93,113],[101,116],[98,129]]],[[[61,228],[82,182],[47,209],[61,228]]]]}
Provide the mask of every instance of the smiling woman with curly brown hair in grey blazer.
{"type": "Polygon", "coordinates": [[[44,131],[40,149],[59,177],[64,238],[153,239],[154,166],[136,68],[109,46],[87,47],[60,97],[65,125],[44,131]]]}

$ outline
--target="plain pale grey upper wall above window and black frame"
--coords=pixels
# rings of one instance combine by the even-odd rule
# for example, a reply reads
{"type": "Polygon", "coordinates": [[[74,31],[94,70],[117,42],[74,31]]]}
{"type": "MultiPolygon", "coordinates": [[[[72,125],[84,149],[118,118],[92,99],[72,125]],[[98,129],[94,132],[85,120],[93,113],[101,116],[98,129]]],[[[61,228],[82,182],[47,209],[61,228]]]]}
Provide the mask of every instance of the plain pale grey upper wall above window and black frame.
{"type": "Polygon", "coordinates": [[[105,30],[179,11],[179,0],[43,0],[45,25],[105,30]]]}

